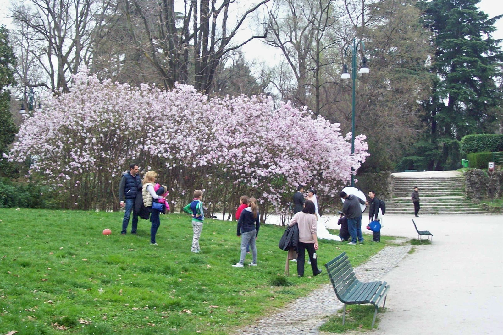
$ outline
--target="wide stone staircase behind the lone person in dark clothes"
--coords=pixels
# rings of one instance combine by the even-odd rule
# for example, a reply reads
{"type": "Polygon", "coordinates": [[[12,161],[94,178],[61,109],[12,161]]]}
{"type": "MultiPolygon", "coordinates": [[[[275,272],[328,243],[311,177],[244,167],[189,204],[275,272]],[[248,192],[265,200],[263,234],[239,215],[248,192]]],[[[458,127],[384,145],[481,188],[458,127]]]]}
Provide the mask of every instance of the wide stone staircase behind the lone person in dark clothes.
{"type": "Polygon", "coordinates": [[[464,178],[455,177],[403,177],[396,176],[393,199],[386,202],[386,214],[413,214],[410,199],[414,186],[419,189],[419,214],[479,214],[481,207],[464,197],[464,178]]]}

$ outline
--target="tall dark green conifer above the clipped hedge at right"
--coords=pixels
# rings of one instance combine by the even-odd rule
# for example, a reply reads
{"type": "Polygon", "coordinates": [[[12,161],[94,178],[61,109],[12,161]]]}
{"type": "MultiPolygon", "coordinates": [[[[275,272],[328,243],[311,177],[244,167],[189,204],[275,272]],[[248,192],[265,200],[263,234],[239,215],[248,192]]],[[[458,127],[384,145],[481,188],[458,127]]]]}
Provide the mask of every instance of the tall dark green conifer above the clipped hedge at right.
{"type": "Polygon", "coordinates": [[[420,1],[425,27],[435,46],[436,82],[424,102],[432,142],[490,132],[501,103],[503,52],[494,40],[494,23],[479,11],[480,0],[420,1]]]}

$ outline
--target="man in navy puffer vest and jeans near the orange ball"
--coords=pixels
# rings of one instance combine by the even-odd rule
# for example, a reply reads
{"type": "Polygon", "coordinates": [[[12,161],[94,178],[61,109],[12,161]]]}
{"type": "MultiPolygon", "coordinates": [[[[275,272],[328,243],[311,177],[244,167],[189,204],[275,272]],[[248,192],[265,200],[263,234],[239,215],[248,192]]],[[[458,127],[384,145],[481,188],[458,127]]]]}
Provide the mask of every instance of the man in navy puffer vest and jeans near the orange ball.
{"type": "Polygon", "coordinates": [[[121,207],[126,206],[124,218],[122,219],[122,235],[126,235],[127,226],[129,225],[129,217],[131,211],[133,212],[133,221],[131,222],[131,234],[136,234],[136,227],[138,226],[138,214],[134,210],[134,201],[136,193],[141,191],[141,179],[138,174],[138,165],[129,164],[129,172],[122,175],[121,182],[119,183],[119,201],[121,207]],[[125,201],[124,201],[125,200],[125,201]]]}

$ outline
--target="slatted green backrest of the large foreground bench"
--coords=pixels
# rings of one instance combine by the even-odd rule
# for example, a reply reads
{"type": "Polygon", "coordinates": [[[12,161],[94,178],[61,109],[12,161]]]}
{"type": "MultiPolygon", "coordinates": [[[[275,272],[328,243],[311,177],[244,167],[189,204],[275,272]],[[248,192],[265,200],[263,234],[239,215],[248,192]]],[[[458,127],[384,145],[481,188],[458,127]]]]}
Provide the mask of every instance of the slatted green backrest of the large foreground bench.
{"type": "Polygon", "coordinates": [[[344,252],[325,264],[328,277],[339,299],[346,290],[358,283],[348,255],[344,252]]]}

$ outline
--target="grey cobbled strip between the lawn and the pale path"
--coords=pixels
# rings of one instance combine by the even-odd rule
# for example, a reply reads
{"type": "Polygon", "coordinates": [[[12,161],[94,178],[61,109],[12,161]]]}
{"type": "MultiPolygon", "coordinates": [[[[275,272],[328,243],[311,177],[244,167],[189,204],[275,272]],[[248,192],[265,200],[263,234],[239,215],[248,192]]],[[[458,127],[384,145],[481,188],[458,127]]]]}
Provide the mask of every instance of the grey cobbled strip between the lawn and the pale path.
{"type": "MultiPolygon", "coordinates": [[[[384,274],[398,264],[409,249],[409,244],[384,248],[367,263],[355,269],[356,277],[361,281],[381,280],[384,274]]],[[[324,268],[323,273],[326,273],[324,268]]],[[[294,300],[277,314],[261,319],[258,324],[237,330],[236,334],[319,334],[318,327],[326,321],[325,316],[337,313],[337,310],[342,307],[343,303],[337,299],[332,285],[326,284],[312,291],[307,297],[294,300]]]]}

